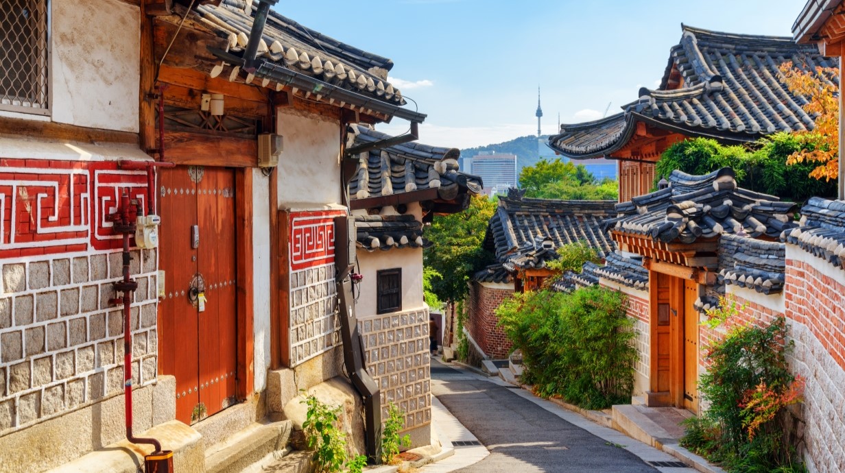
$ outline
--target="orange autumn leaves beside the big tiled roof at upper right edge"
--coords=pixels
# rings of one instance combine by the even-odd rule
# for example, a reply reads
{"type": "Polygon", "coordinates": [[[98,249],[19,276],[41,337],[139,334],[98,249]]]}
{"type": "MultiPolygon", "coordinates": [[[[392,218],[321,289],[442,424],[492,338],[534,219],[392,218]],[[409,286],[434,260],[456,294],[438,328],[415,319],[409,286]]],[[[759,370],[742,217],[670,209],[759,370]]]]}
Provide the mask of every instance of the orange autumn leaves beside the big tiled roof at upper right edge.
{"type": "Polygon", "coordinates": [[[839,76],[838,68],[795,68],[792,62],[780,67],[781,78],[795,95],[807,99],[802,108],[815,117],[815,129],[796,132],[810,135],[815,141],[812,150],[790,155],[787,164],[816,163],[810,177],[829,181],[839,173],[839,88],[831,79],[839,76]]]}

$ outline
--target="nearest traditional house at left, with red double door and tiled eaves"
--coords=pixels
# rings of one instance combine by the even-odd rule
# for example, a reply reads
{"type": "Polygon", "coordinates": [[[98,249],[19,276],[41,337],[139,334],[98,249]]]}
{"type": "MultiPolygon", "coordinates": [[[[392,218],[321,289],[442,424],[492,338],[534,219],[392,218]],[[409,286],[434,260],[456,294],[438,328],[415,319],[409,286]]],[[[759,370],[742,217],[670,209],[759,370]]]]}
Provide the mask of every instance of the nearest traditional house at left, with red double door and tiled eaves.
{"type": "MultiPolygon", "coordinates": [[[[233,435],[284,446],[288,427],[257,421],[296,421],[299,389],[360,411],[336,378],[347,127],[425,116],[390,59],[272,3],[0,6],[0,65],[19,71],[0,79],[0,470],[134,470],[150,448],[116,421],[122,392],[134,432],[189,470],[245,466],[233,435]],[[147,230],[130,259],[124,213],[147,230]]],[[[345,425],[363,453],[362,421],[345,425]]]]}

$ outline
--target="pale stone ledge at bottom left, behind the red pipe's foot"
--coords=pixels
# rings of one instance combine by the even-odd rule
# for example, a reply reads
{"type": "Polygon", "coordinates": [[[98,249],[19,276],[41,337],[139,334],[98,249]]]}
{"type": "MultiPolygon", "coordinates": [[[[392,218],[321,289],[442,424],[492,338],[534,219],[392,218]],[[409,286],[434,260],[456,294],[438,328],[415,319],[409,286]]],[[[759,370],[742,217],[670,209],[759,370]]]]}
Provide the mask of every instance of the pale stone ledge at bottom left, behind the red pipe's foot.
{"type": "MultiPolygon", "coordinates": [[[[141,438],[155,438],[161,448],[173,452],[173,470],[200,473],[203,470],[203,449],[199,432],[180,421],[169,421],[145,432],[135,433],[141,438]]],[[[151,445],[136,445],[127,440],[112,443],[79,459],[50,470],[55,473],[137,473],[144,465],[144,456],[152,453],[151,445]]]]}

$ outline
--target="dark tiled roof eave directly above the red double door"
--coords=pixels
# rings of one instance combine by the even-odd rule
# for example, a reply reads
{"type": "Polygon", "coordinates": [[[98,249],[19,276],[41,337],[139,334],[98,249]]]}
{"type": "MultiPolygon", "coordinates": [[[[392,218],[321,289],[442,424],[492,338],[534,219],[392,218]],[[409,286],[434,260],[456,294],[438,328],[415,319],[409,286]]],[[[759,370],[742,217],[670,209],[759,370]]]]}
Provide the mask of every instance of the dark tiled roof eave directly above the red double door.
{"type": "MultiPolygon", "coordinates": [[[[200,5],[190,18],[226,39],[227,54],[240,57],[248,44],[258,4],[253,0],[223,0],[219,6],[200,5]]],[[[265,87],[281,90],[285,84],[268,84],[269,79],[264,76],[266,70],[281,68],[315,79],[312,90],[303,90],[308,96],[330,96],[331,87],[323,85],[330,84],[393,106],[406,103],[400,90],[387,80],[387,73],[393,68],[390,59],[306,28],[273,9],[264,27],[258,57],[268,64],[261,69],[262,73],[256,73],[264,77],[257,83],[265,87]]],[[[222,71],[223,67],[215,68],[211,75],[216,77],[222,71]]],[[[237,67],[226,73],[237,77],[237,67]]]]}

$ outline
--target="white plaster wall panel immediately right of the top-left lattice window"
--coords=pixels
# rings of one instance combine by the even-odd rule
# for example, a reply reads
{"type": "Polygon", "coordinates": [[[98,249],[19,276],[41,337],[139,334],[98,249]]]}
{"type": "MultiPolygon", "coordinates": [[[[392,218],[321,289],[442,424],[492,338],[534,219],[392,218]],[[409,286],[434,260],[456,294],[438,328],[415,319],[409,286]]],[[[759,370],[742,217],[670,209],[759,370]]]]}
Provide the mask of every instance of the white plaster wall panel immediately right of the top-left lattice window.
{"type": "Polygon", "coordinates": [[[117,0],[52,0],[52,120],[138,133],[140,12],[117,0]]]}

